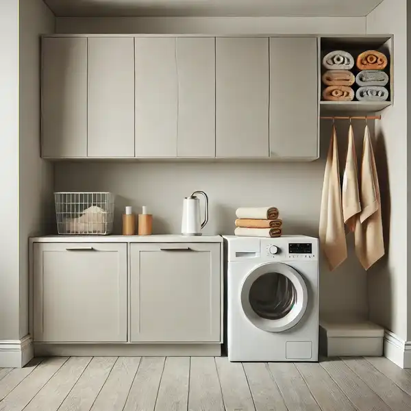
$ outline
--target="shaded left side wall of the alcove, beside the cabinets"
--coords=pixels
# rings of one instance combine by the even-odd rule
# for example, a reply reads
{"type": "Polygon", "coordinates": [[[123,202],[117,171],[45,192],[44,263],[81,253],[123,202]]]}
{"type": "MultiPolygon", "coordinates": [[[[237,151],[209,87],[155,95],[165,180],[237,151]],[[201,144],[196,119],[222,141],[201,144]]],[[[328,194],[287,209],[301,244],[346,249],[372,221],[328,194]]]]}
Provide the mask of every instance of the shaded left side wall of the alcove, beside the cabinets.
{"type": "Polygon", "coordinates": [[[40,159],[40,34],[53,33],[55,18],[42,0],[20,6],[19,273],[20,337],[28,334],[28,241],[47,233],[53,164],[40,159]]]}

